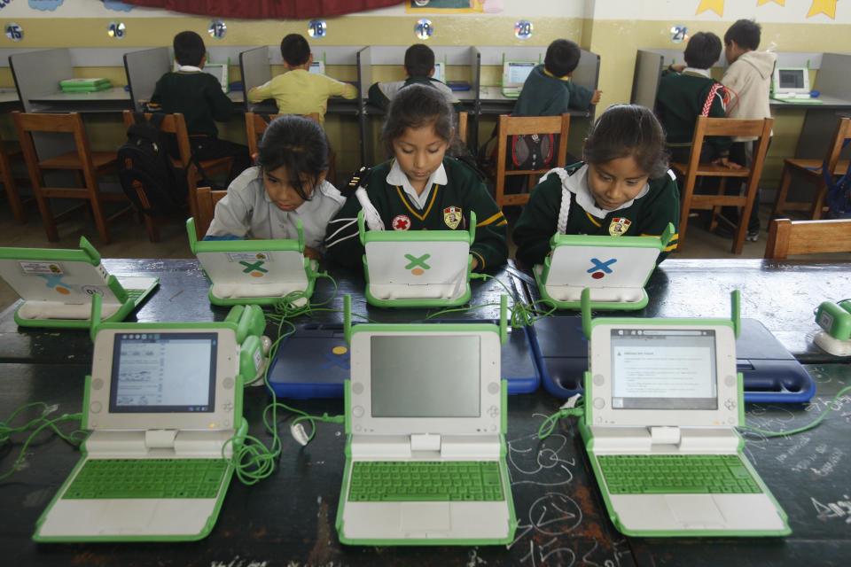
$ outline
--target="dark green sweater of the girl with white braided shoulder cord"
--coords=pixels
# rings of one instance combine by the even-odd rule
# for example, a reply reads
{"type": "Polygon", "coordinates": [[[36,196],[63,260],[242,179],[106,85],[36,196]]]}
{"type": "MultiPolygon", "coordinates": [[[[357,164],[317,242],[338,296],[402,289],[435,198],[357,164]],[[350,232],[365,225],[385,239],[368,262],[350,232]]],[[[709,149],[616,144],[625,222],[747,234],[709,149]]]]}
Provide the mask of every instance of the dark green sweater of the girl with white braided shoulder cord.
{"type": "MultiPolygon", "coordinates": [[[[581,167],[586,166],[578,163],[566,167],[566,171],[569,175],[574,175],[581,167]]],[[[523,207],[514,227],[512,237],[517,245],[517,259],[528,267],[543,263],[543,259],[550,254],[550,238],[558,232],[561,190],[561,179],[558,175],[548,175],[532,190],[529,202],[523,207]]],[[[651,179],[647,193],[634,199],[632,205],[617,211],[608,211],[603,218],[598,218],[582,208],[573,192],[570,193],[570,198],[566,234],[658,237],[668,226],[668,222],[674,224],[674,229],[677,229],[680,223],[679,191],[670,172],[658,179],[651,179]],[[624,219],[628,221],[628,225],[622,221],[624,219]]],[[[675,247],[676,234],[671,238],[665,252],[660,254],[659,261],[675,247]]]]}

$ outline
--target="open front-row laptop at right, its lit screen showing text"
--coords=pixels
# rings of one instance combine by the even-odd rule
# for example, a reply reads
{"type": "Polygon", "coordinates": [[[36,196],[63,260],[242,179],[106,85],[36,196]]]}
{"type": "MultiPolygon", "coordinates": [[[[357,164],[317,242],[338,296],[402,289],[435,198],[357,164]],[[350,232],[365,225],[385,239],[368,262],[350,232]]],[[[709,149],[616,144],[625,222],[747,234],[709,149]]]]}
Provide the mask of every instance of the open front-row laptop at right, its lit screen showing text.
{"type": "Polygon", "coordinates": [[[615,527],[633,536],[791,532],[748,462],[733,320],[597,318],[579,429],[615,527]]]}

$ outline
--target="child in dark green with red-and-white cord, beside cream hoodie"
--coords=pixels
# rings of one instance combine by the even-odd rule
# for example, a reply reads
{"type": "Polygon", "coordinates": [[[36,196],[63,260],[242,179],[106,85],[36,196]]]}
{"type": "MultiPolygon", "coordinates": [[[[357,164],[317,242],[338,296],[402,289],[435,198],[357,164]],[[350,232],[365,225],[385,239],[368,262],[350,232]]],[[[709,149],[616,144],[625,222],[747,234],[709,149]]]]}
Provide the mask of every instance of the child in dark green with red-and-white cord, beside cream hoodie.
{"type": "MultiPolygon", "coordinates": [[[[668,66],[662,72],[656,113],[665,128],[668,151],[678,163],[689,160],[694,125],[698,116],[725,118],[729,95],[724,86],[709,76],[709,68],[721,57],[721,38],[712,32],[692,35],[685,46],[685,65],[668,66]]],[[[700,149],[701,163],[732,167],[729,136],[711,136],[700,149]]]]}

